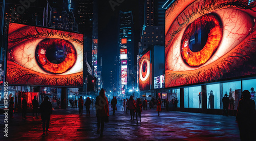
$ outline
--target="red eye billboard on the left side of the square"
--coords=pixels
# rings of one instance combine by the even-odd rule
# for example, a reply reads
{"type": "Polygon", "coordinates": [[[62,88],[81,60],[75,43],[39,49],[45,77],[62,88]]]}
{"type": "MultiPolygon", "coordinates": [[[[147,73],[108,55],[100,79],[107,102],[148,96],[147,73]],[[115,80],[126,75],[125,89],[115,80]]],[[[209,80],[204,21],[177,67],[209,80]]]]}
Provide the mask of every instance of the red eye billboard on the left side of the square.
{"type": "Polygon", "coordinates": [[[10,23],[6,79],[10,84],[82,87],[83,35],[10,23]]]}

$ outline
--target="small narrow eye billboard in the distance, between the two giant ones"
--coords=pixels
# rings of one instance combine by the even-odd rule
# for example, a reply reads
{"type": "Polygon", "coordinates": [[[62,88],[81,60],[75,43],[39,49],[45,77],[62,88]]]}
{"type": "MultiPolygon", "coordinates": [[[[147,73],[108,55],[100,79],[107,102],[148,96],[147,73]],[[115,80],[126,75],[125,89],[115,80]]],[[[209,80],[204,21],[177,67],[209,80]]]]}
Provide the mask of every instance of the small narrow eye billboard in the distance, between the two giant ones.
{"type": "Polygon", "coordinates": [[[139,89],[150,90],[151,61],[150,51],[147,51],[139,60],[139,89]]]}

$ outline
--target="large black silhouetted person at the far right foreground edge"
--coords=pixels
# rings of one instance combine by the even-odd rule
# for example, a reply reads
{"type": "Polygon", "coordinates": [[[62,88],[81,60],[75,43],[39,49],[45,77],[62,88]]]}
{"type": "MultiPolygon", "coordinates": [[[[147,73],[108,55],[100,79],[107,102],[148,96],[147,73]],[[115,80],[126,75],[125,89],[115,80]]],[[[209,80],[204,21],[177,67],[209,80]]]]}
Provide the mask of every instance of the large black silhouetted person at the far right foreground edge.
{"type": "Polygon", "coordinates": [[[240,139],[243,140],[256,140],[255,136],[255,102],[250,99],[251,94],[248,90],[242,92],[243,98],[239,100],[237,110],[237,121],[240,131],[240,139]]]}

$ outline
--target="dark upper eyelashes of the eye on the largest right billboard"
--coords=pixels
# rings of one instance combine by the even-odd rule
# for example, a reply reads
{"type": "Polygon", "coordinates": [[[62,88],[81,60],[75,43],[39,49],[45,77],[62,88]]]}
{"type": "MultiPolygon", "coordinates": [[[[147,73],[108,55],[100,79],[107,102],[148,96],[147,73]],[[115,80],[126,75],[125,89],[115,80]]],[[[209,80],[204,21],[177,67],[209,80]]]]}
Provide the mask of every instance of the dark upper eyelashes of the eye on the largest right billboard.
{"type": "MultiPolygon", "coordinates": [[[[217,9],[221,9],[223,7],[227,7],[227,8],[233,8],[233,7],[237,7],[237,8],[240,8],[240,9],[251,9],[253,7],[255,7],[253,4],[251,5],[248,5],[247,2],[240,2],[240,1],[237,1],[237,2],[228,2],[228,3],[223,3],[223,4],[216,4],[218,1],[214,1],[210,4],[201,4],[201,7],[197,7],[198,9],[191,9],[192,12],[189,12],[191,14],[189,14],[189,17],[185,17],[182,18],[184,21],[183,23],[180,23],[178,21],[178,19],[176,18],[177,22],[179,23],[179,27],[176,31],[172,31],[172,32],[168,32],[168,34],[170,35],[170,39],[169,41],[167,41],[166,43],[166,46],[168,46],[171,41],[174,39],[174,37],[183,29],[183,26],[184,25],[187,25],[188,22],[195,16],[195,15],[198,15],[198,14],[205,14],[204,11],[214,11],[214,10],[217,10],[217,9]]],[[[173,5],[176,5],[178,2],[176,1],[176,3],[174,3],[173,5]]],[[[191,3],[190,5],[193,5],[193,3],[191,3]]],[[[168,13],[170,14],[172,12],[172,9],[168,11],[168,13]]],[[[186,16],[185,14],[182,16],[182,14],[185,13],[185,12],[182,12],[180,13],[180,15],[178,17],[183,17],[183,16],[186,16]]],[[[176,21],[175,20],[175,21],[176,21]]],[[[174,21],[174,22],[175,22],[174,21]]]]}

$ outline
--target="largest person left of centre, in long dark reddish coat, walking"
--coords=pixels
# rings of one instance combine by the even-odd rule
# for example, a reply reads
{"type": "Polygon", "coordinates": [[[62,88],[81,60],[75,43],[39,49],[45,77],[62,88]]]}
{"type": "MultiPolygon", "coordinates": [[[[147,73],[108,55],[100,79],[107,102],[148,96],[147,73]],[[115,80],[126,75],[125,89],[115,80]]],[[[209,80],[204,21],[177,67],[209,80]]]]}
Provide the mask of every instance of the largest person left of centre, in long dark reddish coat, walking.
{"type": "Polygon", "coordinates": [[[103,136],[104,122],[109,122],[109,102],[102,88],[95,100],[96,117],[97,117],[97,134],[103,136]],[[100,128],[101,125],[101,128],[100,128]]]}

